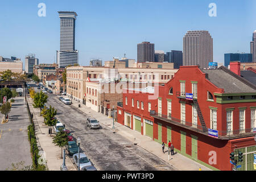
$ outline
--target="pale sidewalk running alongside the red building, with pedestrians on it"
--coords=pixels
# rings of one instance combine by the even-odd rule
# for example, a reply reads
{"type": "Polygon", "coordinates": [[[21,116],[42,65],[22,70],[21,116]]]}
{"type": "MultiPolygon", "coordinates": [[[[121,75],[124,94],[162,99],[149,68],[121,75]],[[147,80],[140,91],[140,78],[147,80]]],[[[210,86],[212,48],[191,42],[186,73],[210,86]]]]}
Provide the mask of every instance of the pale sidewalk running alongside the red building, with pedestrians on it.
{"type": "MultiPolygon", "coordinates": [[[[106,115],[98,113],[90,107],[87,107],[81,103],[78,103],[77,101],[73,100],[73,106],[77,107],[84,113],[90,115],[91,117],[96,118],[100,123],[104,126],[110,127],[112,129],[113,127],[113,118],[108,118],[106,115]],[[79,107],[78,105],[81,105],[79,107]]],[[[209,169],[202,164],[199,164],[195,162],[192,159],[189,159],[179,153],[175,154],[174,156],[170,155],[170,160],[168,161],[168,152],[163,154],[161,144],[154,142],[150,137],[141,135],[141,133],[131,130],[126,126],[121,125],[118,122],[114,123],[115,126],[115,132],[122,135],[123,137],[129,139],[131,142],[134,142],[134,138],[136,138],[136,143],[138,146],[141,146],[145,150],[151,152],[151,154],[154,154],[158,156],[158,158],[163,159],[164,161],[171,164],[172,167],[176,168],[180,171],[199,171],[199,168],[202,169],[202,171],[212,171],[212,169],[209,169]]],[[[168,150],[168,146],[166,146],[165,150],[168,150]]]]}

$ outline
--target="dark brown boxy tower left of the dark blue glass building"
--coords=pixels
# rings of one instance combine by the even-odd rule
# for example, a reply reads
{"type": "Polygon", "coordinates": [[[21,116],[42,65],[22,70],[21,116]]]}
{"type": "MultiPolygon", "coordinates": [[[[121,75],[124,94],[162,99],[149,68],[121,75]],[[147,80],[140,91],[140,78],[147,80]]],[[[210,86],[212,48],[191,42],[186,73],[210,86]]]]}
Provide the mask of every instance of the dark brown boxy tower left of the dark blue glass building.
{"type": "Polygon", "coordinates": [[[143,63],[146,61],[154,62],[155,60],[155,44],[150,42],[142,42],[137,44],[137,62],[143,63]]]}

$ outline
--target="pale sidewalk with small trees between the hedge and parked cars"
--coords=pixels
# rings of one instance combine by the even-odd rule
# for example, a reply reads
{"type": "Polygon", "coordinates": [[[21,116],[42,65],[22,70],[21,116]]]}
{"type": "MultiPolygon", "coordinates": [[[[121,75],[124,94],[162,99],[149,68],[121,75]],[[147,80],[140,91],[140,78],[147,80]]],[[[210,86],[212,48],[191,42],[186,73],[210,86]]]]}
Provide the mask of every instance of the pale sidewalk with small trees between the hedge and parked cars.
{"type": "MultiPolygon", "coordinates": [[[[35,109],[32,106],[32,99],[27,97],[28,106],[30,107],[31,114],[34,115],[33,120],[35,123],[35,133],[38,143],[40,145],[39,150],[44,151],[45,158],[47,161],[47,167],[49,171],[60,171],[60,166],[63,164],[63,159],[60,159],[61,148],[55,146],[53,141],[53,135],[50,137],[48,134],[49,127],[44,125],[43,117],[40,116],[40,109],[35,109]]],[[[67,154],[67,153],[66,153],[67,154]]],[[[65,164],[68,168],[68,171],[76,171],[75,166],[66,155],[65,164]]]]}

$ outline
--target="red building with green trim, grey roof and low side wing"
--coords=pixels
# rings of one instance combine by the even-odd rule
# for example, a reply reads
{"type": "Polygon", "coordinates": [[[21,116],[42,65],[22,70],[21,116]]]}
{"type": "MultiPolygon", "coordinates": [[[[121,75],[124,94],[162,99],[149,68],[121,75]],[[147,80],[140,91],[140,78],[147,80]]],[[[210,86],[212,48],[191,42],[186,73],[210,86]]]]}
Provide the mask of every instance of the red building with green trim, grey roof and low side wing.
{"type": "Polygon", "coordinates": [[[150,123],[150,137],[156,142],[171,140],[175,151],[219,170],[232,170],[229,154],[238,151],[243,162],[237,170],[254,169],[255,119],[256,86],[225,67],[180,67],[167,84],[155,86],[154,93],[123,94],[123,106],[118,107],[119,123],[139,131],[141,120],[142,134],[150,123]],[[158,98],[148,100],[150,94],[158,98]]]}

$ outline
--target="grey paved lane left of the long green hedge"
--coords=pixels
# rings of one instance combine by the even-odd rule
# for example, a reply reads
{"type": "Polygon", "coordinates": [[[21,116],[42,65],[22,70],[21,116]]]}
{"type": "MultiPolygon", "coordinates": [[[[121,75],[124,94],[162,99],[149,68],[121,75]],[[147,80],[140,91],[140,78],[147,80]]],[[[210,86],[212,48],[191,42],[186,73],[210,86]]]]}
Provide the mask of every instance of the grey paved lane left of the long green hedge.
{"type": "Polygon", "coordinates": [[[24,161],[24,166],[32,164],[27,127],[30,125],[27,106],[23,97],[15,98],[9,114],[9,122],[0,121],[0,171],[11,164],[24,161]]]}

